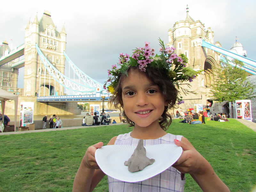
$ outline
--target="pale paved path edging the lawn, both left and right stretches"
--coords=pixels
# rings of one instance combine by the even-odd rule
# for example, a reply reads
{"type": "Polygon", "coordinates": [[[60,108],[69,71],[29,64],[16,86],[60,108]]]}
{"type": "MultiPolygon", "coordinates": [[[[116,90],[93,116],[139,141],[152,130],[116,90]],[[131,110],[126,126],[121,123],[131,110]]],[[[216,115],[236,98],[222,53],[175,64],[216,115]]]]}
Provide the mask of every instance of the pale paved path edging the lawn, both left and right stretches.
{"type": "MultiPolygon", "coordinates": [[[[256,132],[256,123],[253,123],[253,122],[245,120],[245,119],[236,119],[236,120],[256,132]]],[[[120,125],[120,124],[122,124],[122,123],[110,124],[110,125],[120,125]]],[[[94,126],[90,126],[90,127],[99,127],[99,126],[108,126],[108,125],[94,125],[94,126]]],[[[78,126],[78,127],[64,127],[64,128],[58,128],[58,129],[38,129],[38,130],[31,130],[31,131],[3,132],[3,133],[0,133],[0,135],[11,135],[11,134],[33,133],[33,132],[48,132],[48,131],[61,131],[61,130],[68,130],[68,129],[81,129],[81,128],[86,128],[86,127],[87,126],[78,126]]]]}

